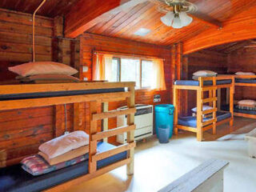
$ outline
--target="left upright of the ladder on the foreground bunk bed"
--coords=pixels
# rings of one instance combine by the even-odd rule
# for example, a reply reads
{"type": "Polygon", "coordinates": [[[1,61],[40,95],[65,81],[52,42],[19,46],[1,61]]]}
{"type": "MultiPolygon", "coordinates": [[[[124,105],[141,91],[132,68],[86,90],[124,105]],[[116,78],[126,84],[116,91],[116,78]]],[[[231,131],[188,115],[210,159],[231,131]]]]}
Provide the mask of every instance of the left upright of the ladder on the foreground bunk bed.
{"type": "Polygon", "coordinates": [[[89,143],[89,173],[92,174],[97,170],[97,162],[93,161],[93,155],[97,154],[97,140],[92,136],[97,133],[97,121],[93,121],[93,114],[97,114],[97,102],[90,102],[90,143],[89,143]]]}

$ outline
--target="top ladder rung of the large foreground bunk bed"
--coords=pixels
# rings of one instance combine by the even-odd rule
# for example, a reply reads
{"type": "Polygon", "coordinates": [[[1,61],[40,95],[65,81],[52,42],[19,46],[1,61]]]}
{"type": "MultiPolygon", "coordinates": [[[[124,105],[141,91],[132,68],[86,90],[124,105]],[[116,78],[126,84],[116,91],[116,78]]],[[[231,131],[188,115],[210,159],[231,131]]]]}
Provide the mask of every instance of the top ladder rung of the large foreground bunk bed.
{"type": "Polygon", "coordinates": [[[117,117],[118,115],[135,114],[135,113],[136,113],[135,108],[130,108],[130,109],[127,109],[127,110],[113,110],[113,111],[104,112],[104,113],[101,113],[101,114],[93,114],[92,120],[97,121],[97,120],[101,120],[101,119],[104,119],[104,118],[114,118],[114,117],[117,117]]]}

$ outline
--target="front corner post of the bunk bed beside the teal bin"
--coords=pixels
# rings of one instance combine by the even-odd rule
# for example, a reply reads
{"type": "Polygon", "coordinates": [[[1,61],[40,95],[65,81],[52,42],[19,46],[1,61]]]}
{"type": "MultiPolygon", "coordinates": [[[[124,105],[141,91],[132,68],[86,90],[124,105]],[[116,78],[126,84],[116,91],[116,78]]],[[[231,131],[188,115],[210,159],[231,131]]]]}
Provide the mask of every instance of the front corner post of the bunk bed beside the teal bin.
{"type": "Polygon", "coordinates": [[[197,90],[197,140],[198,142],[202,142],[202,99],[203,99],[203,81],[202,78],[199,77],[199,87],[197,90]]]}

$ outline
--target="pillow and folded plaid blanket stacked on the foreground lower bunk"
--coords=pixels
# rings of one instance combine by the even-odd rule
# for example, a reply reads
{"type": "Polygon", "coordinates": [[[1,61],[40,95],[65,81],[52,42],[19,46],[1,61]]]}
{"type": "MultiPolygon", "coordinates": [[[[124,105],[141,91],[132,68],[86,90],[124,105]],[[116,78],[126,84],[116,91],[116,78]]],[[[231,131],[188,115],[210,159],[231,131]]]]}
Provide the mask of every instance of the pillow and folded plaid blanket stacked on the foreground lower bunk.
{"type": "Polygon", "coordinates": [[[72,166],[89,158],[89,135],[84,131],[54,138],[39,146],[38,154],[24,158],[22,169],[36,176],[72,166]]]}

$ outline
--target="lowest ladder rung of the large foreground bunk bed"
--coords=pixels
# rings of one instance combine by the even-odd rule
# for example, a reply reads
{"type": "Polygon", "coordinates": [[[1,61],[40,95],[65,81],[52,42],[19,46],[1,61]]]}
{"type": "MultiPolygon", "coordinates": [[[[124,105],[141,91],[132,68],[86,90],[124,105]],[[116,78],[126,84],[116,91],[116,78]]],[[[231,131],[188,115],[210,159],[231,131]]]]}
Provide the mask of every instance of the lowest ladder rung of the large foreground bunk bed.
{"type": "Polygon", "coordinates": [[[109,158],[109,157],[113,156],[114,154],[119,154],[126,150],[130,150],[131,148],[134,148],[135,146],[136,146],[136,142],[130,142],[130,143],[123,144],[122,146],[117,146],[113,150],[106,150],[102,153],[94,154],[92,156],[92,161],[97,162],[104,158],[109,158]]]}

